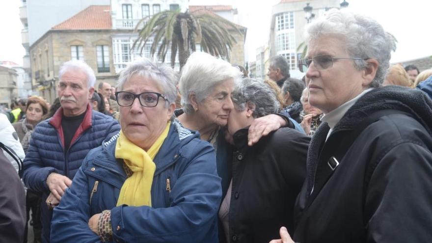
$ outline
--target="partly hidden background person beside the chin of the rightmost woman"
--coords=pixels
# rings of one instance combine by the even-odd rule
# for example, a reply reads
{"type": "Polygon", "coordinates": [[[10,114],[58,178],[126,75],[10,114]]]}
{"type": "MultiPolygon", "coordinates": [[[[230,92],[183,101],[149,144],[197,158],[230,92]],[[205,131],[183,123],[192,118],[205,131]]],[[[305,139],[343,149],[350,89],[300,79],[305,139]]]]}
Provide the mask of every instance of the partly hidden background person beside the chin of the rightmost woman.
{"type": "Polygon", "coordinates": [[[324,116],[323,111],[309,103],[309,92],[307,88],[303,89],[300,101],[303,107],[303,110],[300,112],[300,125],[307,135],[313,136],[321,125],[321,118],[324,116]]]}

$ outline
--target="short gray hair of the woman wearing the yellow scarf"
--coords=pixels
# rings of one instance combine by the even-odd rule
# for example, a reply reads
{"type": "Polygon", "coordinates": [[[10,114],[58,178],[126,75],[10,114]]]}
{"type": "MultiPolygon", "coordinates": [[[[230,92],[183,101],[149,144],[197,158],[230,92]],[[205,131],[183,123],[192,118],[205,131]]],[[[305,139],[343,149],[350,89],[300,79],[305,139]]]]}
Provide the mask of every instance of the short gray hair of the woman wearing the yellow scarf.
{"type": "Polygon", "coordinates": [[[168,99],[168,102],[165,104],[166,107],[175,102],[177,98],[176,85],[178,76],[168,65],[157,63],[147,58],[138,59],[130,63],[118,77],[117,91],[122,91],[125,82],[134,75],[158,82],[162,86],[163,94],[168,99]]]}

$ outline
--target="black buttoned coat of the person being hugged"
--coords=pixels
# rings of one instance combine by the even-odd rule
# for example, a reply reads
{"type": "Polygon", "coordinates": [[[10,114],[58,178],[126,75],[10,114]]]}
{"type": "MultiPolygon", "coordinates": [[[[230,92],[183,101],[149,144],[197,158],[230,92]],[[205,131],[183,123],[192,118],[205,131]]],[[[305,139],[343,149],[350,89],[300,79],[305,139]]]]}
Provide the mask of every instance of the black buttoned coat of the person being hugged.
{"type": "Polygon", "coordinates": [[[267,243],[278,238],[281,226],[293,232],[294,203],[306,175],[310,138],[282,128],[249,147],[247,133],[247,128],[241,129],[233,136],[237,150],[231,164],[230,242],[267,243]]]}

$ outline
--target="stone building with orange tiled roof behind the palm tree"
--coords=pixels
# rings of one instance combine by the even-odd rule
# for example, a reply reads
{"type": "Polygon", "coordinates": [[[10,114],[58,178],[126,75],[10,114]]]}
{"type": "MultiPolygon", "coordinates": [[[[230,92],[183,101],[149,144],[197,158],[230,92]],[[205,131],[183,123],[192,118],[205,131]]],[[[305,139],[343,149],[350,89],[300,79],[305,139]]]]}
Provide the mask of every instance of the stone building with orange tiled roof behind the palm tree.
{"type": "MultiPolygon", "coordinates": [[[[138,36],[135,27],[139,20],[163,10],[186,11],[188,8],[186,0],[155,0],[150,3],[148,0],[111,0],[110,5],[90,5],[51,27],[29,47],[33,89],[52,103],[57,96],[59,68],[71,59],[83,60],[95,71],[96,86],[101,81],[115,85],[118,74],[128,63],[141,56],[152,57],[151,42],[146,43],[142,54],[139,48],[132,48],[138,36]]],[[[217,14],[217,11],[210,10],[204,11],[217,14]]],[[[225,12],[223,16],[229,17],[225,12]]],[[[246,28],[237,27],[240,31],[230,30],[237,43],[229,60],[244,66],[246,28]]],[[[167,56],[170,56],[169,52],[167,56]]],[[[168,59],[165,58],[166,63],[169,63],[168,59]]],[[[178,63],[176,67],[178,69],[178,63]]]]}

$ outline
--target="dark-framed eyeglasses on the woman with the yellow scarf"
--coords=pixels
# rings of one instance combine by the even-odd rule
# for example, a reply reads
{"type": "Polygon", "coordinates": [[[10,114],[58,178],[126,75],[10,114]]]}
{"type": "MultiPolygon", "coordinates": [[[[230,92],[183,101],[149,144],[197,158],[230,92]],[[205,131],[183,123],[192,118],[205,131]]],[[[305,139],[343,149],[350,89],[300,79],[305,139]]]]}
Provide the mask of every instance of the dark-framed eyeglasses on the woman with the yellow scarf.
{"type": "Polygon", "coordinates": [[[121,107],[132,106],[136,98],[138,98],[139,104],[143,107],[155,107],[158,105],[159,97],[168,101],[165,95],[156,92],[143,92],[140,94],[127,91],[115,92],[115,99],[117,100],[117,104],[121,107]]]}

